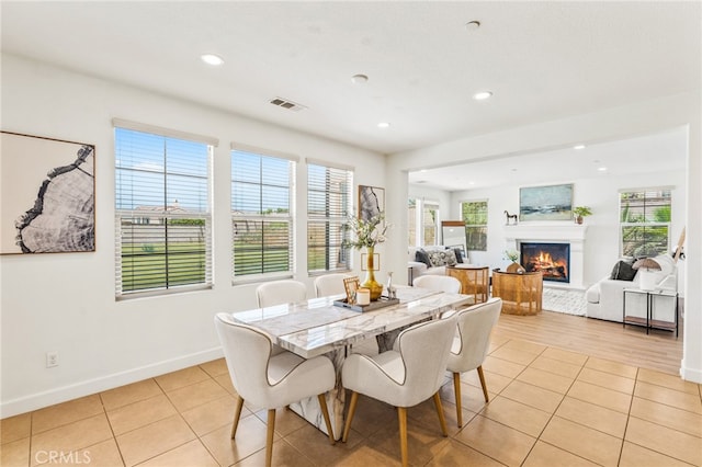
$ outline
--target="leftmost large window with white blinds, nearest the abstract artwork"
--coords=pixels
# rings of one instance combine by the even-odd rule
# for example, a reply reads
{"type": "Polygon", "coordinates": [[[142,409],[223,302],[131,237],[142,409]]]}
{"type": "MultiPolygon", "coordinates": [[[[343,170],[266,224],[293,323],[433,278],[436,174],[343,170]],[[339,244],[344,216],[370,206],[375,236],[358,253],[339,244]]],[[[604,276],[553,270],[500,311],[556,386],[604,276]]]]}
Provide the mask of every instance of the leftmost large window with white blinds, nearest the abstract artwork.
{"type": "Polygon", "coordinates": [[[115,128],[116,296],[212,286],[212,140],[126,126],[115,128]]]}

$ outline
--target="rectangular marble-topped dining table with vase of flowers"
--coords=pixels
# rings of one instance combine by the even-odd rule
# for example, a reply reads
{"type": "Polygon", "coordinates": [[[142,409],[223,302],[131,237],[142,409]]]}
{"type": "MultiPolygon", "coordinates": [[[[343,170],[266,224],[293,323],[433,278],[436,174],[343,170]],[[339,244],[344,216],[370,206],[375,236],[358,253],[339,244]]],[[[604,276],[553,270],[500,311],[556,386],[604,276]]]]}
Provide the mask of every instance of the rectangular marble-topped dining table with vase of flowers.
{"type": "MultiPolygon", "coordinates": [[[[326,355],[331,360],[337,380],[326,397],[331,408],[329,415],[333,437],[339,440],[346,402],[341,367],[349,352],[353,352],[353,345],[375,339],[377,351],[384,352],[392,349],[403,329],[469,305],[472,300],[469,295],[420,287],[398,287],[396,296],[398,303],[369,311],[344,306],[346,297],[337,295],[236,311],[231,318],[263,331],[274,344],[304,358],[326,355]]],[[[327,433],[316,397],[292,403],[290,408],[327,433]]]]}

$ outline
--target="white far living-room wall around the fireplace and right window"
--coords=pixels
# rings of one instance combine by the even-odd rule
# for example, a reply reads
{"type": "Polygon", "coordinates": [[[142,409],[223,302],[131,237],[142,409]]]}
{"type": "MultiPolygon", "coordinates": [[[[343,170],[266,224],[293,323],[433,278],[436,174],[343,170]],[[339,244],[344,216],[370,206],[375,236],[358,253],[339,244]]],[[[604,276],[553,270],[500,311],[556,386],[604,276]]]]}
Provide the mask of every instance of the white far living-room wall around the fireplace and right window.
{"type": "MultiPolygon", "coordinates": [[[[661,155],[665,157],[665,155],[661,155]]],[[[631,176],[609,176],[596,179],[557,180],[554,184],[574,184],[574,206],[587,205],[593,215],[585,218],[587,237],[585,241],[584,285],[587,287],[612,271],[619,259],[619,191],[648,186],[671,186],[672,219],[670,241],[675,244],[684,226],[686,173],[666,172],[636,174],[631,176]]],[[[526,186],[526,185],[525,185],[526,186]]],[[[509,261],[502,258],[506,249],[505,210],[519,213],[519,186],[496,186],[484,190],[453,192],[451,206],[464,201],[488,200],[487,251],[471,251],[471,260],[477,265],[505,267],[509,261]]],[[[529,223],[539,225],[539,223],[529,223]]]]}

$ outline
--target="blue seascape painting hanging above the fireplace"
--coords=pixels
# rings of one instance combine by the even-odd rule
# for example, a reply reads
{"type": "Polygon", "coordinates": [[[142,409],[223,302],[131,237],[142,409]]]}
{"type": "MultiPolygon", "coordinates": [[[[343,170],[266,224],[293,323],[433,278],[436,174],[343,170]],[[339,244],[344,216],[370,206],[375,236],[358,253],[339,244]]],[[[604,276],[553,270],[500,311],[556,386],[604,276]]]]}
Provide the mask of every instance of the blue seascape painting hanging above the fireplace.
{"type": "Polygon", "coordinates": [[[573,184],[519,189],[519,220],[573,220],[573,184]]]}

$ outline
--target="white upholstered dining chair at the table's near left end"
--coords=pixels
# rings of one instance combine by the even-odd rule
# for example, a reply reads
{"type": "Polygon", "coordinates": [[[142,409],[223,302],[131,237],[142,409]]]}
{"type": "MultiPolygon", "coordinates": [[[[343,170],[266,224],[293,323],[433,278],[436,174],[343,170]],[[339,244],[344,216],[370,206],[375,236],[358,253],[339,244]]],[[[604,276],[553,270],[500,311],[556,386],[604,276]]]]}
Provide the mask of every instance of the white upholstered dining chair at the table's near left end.
{"type": "Polygon", "coordinates": [[[263,332],[237,323],[227,314],[215,316],[215,329],[224,349],[231,384],[238,394],[231,424],[231,438],[237,434],[244,401],[268,409],[265,465],[273,457],[275,409],[317,396],[325,419],[329,441],[335,444],[333,431],[325,394],[336,383],[331,361],[326,356],[305,360],[292,352],[272,354],[271,339],[263,332]]]}

